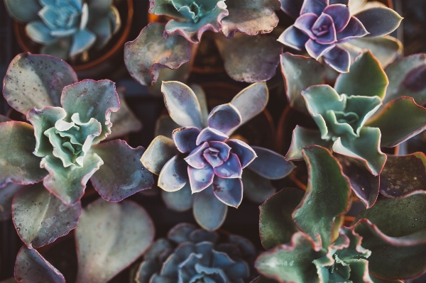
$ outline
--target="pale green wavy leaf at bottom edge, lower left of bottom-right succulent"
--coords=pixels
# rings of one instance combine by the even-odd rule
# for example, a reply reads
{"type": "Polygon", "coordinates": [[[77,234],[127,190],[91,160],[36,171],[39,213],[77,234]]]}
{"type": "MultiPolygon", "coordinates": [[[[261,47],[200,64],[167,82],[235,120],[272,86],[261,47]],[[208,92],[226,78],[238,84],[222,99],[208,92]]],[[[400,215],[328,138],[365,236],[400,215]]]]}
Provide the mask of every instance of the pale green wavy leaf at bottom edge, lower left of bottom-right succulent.
{"type": "Polygon", "coordinates": [[[278,282],[319,282],[312,261],[324,255],[326,250],[305,233],[297,232],[291,243],[261,253],[255,266],[259,273],[278,282]]]}

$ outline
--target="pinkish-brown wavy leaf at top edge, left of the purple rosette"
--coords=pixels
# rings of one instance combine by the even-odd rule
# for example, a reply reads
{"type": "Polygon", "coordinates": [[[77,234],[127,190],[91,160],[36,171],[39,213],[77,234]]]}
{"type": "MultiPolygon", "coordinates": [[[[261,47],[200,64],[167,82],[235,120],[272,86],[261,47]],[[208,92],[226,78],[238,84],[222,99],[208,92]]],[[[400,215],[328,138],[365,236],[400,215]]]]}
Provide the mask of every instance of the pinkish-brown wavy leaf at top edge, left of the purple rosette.
{"type": "Polygon", "coordinates": [[[278,25],[274,10],[280,9],[278,0],[237,0],[226,2],[229,16],[222,19],[222,33],[233,38],[238,31],[246,35],[271,33],[278,25]]]}

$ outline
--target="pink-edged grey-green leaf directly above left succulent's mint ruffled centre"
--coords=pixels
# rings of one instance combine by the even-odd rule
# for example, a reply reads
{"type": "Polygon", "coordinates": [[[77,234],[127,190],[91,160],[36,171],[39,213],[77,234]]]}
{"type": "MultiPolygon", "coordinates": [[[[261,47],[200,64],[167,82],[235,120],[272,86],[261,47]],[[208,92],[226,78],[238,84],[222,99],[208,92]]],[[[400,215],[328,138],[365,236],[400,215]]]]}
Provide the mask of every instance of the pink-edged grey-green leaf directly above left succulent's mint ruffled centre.
{"type": "Polygon", "coordinates": [[[86,123],[95,118],[102,125],[102,133],[93,140],[93,144],[111,133],[111,112],[119,111],[120,100],[115,90],[115,83],[109,79],[94,81],[84,79],[65,87],[60,98],[62,107],[67,111],[67,118],[74,113],[80,114],[80,120],[86,123]]]}

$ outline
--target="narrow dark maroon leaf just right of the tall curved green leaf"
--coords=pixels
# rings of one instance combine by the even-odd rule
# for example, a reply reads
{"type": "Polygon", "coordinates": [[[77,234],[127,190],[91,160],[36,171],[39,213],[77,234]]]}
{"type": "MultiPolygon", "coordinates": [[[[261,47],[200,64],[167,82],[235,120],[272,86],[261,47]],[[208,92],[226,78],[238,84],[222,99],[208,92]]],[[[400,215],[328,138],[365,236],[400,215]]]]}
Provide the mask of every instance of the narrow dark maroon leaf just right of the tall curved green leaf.
{"type": "Polygon", "coordinates": [[[336,157],[342,165],[344,174],[349,178],[351,189],[356,196],[367,209],[373,206],[378,196],[380,178],[368,172],[366,167],[350,157],[344,155],[337,155],[336,157]]]}

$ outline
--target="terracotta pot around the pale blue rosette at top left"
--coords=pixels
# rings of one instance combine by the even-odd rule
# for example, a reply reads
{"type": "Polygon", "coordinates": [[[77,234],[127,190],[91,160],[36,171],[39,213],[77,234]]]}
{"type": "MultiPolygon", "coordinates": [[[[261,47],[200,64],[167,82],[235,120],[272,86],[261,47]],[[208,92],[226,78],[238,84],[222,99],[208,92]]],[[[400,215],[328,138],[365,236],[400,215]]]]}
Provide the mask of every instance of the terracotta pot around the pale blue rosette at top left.
{"type": "MultiPolygon", "coordinates": [[[[133,1],[114,1],[114,4],[115,2],[118,2],[116,8],[119,10],[122,23],[119,32],[109,40],[109,43],[102,50],[96,50],[96,48],[89,50],[91,59],[88,62],[69,62],[80,79],[86,77],[91,79],[103,78],[105,74],[116,69],[115,60],[123,60],[124,43],[129,36],[133,21],[133,1]]],[[[25,26],[26,23],[13,23],[13,30],[19,46],[24,52],[39,53],[41,45],[28,38],[25,26]]]]}

